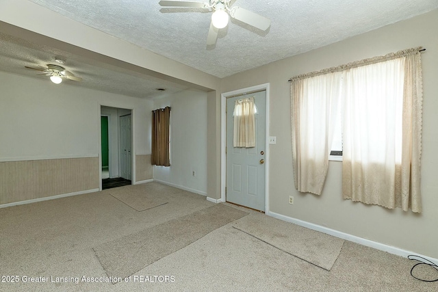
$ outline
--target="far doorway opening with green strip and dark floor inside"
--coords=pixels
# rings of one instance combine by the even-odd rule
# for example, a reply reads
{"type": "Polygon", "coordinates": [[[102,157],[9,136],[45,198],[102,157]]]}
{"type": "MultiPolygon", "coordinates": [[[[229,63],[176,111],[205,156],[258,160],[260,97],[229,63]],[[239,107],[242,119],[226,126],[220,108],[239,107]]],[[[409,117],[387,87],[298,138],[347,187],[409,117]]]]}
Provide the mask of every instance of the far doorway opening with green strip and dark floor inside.
{"type": "Polygon", "coordinates": [[[131,109],[101,106],[101,189],[132,184],[131,109]]]}

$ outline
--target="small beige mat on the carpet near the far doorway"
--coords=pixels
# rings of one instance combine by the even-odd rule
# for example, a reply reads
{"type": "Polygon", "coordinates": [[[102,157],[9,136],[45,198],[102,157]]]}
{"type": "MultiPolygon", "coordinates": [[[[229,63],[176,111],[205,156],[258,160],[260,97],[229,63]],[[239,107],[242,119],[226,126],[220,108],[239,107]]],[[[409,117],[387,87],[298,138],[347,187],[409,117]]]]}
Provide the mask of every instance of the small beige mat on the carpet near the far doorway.
{"type": "Polygon", "coordinates": [[[148,187],[126,186],[108,190],[111,196],[136,211],[145,211],[168,203],[166,196],[156,191],[155,185],[148,187]]]}

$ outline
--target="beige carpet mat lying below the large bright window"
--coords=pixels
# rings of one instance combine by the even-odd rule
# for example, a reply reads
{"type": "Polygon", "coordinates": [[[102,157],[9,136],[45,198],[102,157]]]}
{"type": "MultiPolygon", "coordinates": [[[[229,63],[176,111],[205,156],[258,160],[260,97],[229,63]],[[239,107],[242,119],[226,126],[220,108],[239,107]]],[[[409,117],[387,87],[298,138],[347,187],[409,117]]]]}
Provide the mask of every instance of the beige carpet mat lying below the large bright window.
{"type": "Polygon", "coordinates": [[[327,271],[333,267],[344,244],[344,239],[261,213],[251,213],[233,222],[233,227],[327,271]]]}

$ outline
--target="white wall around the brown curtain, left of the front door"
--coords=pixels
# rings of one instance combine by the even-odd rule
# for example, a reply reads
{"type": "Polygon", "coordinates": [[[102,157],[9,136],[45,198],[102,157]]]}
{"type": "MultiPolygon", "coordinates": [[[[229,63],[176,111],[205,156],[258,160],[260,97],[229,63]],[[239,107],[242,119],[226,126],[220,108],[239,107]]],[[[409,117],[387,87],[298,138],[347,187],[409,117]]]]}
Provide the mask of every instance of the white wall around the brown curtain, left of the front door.
{"type": "Polygon", "coordinates": [[[206,195],[207,93],[186,90],[154,100],[155,109],[166,106],[171,107],[171,165],[154,166],[154,179],[206,195]]]}

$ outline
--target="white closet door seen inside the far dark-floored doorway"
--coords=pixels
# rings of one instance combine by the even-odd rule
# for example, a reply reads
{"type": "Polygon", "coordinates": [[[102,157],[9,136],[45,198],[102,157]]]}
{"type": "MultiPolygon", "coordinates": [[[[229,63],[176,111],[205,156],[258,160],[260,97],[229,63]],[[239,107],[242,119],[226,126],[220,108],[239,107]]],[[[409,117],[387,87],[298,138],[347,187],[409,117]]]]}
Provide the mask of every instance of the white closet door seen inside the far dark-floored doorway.
{"type": "Polygon", "coordinates": [[[131,115],[120,117],[120,176],[132,179],[131,115]]]}

